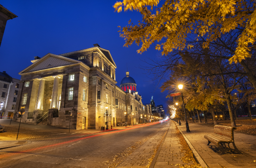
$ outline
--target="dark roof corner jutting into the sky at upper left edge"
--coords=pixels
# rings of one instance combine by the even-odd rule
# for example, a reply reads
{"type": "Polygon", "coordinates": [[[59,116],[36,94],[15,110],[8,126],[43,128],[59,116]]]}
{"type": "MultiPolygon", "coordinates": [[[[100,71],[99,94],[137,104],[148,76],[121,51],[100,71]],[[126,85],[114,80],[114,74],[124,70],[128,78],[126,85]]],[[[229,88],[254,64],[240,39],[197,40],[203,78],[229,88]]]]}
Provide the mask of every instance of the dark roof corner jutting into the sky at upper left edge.
{"type": "Polygon", "coordinates": [[[17,18],[18,16],[14,15],[8,9],[3,7],[0,4],[0,46],[4,35],[4,29],[7,23],[7,20],[17,18]]]}

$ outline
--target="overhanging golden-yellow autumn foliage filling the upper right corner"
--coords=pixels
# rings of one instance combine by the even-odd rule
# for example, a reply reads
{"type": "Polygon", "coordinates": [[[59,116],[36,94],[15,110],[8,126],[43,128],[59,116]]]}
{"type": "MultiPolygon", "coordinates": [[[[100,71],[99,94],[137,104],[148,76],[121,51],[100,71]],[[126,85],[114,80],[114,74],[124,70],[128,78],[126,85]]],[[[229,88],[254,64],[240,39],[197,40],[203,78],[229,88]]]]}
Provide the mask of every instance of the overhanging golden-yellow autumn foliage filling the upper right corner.
{"type": "Polygon", "coordinates": [[[161,7],[157,8],[158,5],[159,0],[123,0],[114,4],[117,12],[124,8],[124,11],[137,10],[142,15],[138,24],[130,20],[129,26],[121,28],[124,46],[133,42],[141,44],[137,52],[142,53],[154,44],[162,55],[168,55],[191,49],[197,42],[203,42],[203,48],[208,48],[219,40],[218,45],[230,51],[229,55],[221,57],[230,63],[240,63],[256,89],[255,71],[247,61],[255,50],[255,0],[166,0],[161,7]],[[220,40],[227,34],[234,36],[234,45],[220,40]]]}

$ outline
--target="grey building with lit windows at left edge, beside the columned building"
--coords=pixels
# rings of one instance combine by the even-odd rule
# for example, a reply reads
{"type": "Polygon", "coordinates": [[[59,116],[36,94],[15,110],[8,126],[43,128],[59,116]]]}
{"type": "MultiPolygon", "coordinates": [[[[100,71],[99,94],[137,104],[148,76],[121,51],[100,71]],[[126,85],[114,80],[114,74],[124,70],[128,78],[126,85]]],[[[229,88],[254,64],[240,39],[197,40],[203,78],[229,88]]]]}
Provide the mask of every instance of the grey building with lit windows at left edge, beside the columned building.
{"type": "Polygon", "coordinates": [[[0,72],[0,117],[10,118],[16,107],[19,80],[12,78],[5,71],[0,72]]]}

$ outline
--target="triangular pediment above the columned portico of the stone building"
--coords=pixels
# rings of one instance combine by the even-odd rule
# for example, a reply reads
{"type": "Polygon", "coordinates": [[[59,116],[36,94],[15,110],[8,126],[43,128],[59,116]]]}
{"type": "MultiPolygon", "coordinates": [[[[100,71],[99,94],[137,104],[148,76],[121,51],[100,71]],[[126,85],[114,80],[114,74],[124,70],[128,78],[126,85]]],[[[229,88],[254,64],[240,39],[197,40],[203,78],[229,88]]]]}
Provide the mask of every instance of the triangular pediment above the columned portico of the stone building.
{"type": "Polygon", "coordinates": [[[47,54],[46,56],[40,58],[38,61],[33,63],[31,66],[22,70],[19,73],[19,75],[21,75],[22,73],[45,70],[45,69],[50,69],[54,67],[67,66],[67,65],[76,64],[76,63],[80,63],[80,61],[62,57],[62,56],[57,56],[54,54],[47,54]]]}

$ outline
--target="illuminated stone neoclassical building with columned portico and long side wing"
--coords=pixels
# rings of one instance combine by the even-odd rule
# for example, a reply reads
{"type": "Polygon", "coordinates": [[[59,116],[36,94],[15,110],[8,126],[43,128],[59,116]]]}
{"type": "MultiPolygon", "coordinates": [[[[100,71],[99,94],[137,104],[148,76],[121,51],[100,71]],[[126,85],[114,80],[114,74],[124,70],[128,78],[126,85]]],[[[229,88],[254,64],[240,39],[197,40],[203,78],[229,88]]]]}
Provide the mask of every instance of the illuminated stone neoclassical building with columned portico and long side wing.
{"type": "Polygon", "coordinates": [[[141,115],[151,115],[138,92],[126,92],[116,85],[114,60],[98,44],[60,55],[49,53],[31,62],[19,73],[15,121],[64,128],[70,122],[71,129],[99,129],[106,122],[109,127],[125,120],[133,124],[141,115]],[[25,107],[22,118],[21,107],[25,107]]]}

